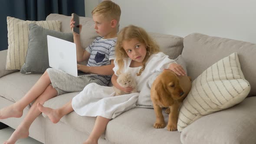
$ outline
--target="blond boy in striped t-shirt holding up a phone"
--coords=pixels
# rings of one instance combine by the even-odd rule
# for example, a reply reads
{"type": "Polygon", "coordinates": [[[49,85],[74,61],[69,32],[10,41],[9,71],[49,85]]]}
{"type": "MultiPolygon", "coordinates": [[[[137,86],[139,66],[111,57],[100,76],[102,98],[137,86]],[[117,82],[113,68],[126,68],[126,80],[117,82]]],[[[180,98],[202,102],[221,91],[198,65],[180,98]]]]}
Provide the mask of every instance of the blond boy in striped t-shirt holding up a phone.
{"type": "MultiPolygon", "coordinates": [[[[114,67],[117,26],[120,16],[120,7],[110,0],[102,1],[95,7],[92,11],[92,17],[95,22],[95,31],[100,37],[95,38],[86,50],[81,47],[80,35],[73,32],[77,61],[88,60],[87,66],[78,64],[78,70],[98,75],[76,78],[58,69],[47,69],[23,98],[0,110],[0,119],[20,118],[23,115],[23,109],[34,101],[26,117],[4,144],[14,144],[18,139],[28,137],[30,125],[41,114],[40,107],[38,108],[37,104],[43,104],[57,95],[82,91],[86,85],[92,82],[99,85],[108,85],[111,75],[114,73],[112,69],[114,67]]],[[[74,27],[73,24],[74,21],[71,19],[71,28],[74,27]]],[[[82,25],[79,25],[79,29],[81,31],[82,25]]],[[[70,107],[66,108],[69,112],[72,111],[72,109],[69,109],[70,107]]]]}

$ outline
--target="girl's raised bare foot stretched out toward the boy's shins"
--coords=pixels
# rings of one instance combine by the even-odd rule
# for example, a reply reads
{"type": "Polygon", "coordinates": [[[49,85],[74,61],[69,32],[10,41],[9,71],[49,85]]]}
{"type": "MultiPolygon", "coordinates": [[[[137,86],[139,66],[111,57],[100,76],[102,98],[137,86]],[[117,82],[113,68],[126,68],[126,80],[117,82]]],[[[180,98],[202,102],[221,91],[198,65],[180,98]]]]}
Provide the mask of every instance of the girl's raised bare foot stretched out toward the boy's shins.
{"type": "Polygon", "coordinates": [[[57,122],[59,122],[59,120],[62,118],[62,116],[59,114],[59,112],[56,109],[53,108],[46,108],[41,104],[37,104],[37,108],[39,109],[39,111],[43,112],[44,114],[46,114],[48,116],[48,118],[54,123],[56,124],[57,122]]]}

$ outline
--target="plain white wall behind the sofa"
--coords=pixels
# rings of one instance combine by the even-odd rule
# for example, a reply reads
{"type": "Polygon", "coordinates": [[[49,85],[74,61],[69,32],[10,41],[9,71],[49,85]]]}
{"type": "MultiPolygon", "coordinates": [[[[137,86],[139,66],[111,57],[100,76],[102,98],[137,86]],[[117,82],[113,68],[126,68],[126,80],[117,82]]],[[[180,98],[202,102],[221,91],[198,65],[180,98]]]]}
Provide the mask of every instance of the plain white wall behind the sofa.
{"type": "Polygon", "coordinates": [[[112,1],[121,7],[121,28],[134,24],[149,32],[182,37],[197,32],[256,43],[256,0],[112,1]]]}

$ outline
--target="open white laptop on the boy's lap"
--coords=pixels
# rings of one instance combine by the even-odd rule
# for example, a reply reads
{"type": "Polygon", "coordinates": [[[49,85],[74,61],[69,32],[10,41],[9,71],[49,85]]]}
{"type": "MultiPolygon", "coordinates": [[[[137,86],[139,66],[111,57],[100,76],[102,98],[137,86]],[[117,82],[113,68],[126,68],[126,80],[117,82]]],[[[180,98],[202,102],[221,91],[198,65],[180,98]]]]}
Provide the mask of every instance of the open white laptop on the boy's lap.
{"type": "Polygon", "coordinates": [[[77,70],[75,43],[47,35],[49,66],[75,77],[97,75],[77,70]]]}

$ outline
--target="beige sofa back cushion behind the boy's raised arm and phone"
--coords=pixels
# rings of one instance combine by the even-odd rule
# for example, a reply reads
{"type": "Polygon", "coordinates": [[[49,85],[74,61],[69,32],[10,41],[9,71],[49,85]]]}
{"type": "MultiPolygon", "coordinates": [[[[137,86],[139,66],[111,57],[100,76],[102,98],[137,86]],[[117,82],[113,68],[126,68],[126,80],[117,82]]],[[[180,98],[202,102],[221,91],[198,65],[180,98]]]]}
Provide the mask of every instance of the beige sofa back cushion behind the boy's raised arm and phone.
{"type": "MultiPolygon", "coordinates": [[[[65,16],[61,14],[52,13],[46,17],[46,20],[59,20],[61,21],[61,32],[70,33],[70,20],[71,16],[65,16]]],[[[98,36],[94,29],[94,22],[89,17],[79,17],[79,23],[82,25],[82,31],[80,33],[82,48],[86,48],[92,44],[93,40],[98,36]]]]}

